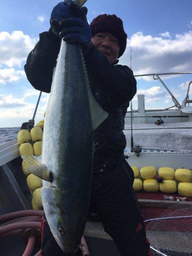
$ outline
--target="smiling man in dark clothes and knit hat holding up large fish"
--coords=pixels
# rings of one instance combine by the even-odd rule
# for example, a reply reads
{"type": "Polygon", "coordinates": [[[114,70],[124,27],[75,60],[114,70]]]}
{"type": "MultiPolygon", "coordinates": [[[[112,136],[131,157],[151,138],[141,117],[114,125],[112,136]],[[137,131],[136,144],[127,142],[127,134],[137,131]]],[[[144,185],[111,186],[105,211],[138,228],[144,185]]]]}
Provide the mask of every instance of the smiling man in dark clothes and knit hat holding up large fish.
{"type": "MultiPolygon", "coordinates": [[[[94,132],[93,183],[90,206],[95,205],[105,231],[121,256],[147,256],[142,212],[133,191],[134,173],[123,154],[126,140],[124,118],[136,93],[136,80],[127,66],[116,65],[126,48],[127,35],[116,15],[99,15],[87,23],[86,7],[73,1],[59,3],[51,14],[49,32],[30,52],[25,65],[33,87],[49,93],[61,38],[81,45],[90,87],[108,118],[94,132]]],[[[42,255],[65,255],[43,222],[42,255]]]]}

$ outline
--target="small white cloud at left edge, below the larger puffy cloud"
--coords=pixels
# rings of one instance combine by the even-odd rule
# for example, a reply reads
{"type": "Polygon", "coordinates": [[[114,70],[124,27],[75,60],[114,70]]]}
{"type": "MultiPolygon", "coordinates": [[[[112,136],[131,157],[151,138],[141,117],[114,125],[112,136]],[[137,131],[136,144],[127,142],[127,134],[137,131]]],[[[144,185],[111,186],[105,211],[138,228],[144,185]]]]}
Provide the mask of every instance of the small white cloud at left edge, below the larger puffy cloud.
{"type": "Polygon", "coordinates": [[[0,84],[12,83],[25,77],[23,70],[15,70],[12,68],[4,68],[0,70],[0,84]]]}

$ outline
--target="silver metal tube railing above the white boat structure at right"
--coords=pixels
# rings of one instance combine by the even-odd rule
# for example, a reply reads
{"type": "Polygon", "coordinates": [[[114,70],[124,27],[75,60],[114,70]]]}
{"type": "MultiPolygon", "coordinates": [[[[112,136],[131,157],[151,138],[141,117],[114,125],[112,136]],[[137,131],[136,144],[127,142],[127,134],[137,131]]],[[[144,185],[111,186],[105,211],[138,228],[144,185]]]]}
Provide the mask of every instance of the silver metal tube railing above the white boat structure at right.
{"type": "MultiPolygon", "coordinates": [[[[172,94],[172,92],[169,90],[169,88],[166,86],[166,84],[163,82],[163,80],[160,78],[160,76],[162,76],[162,75],[185,75],[185,74],[192,74],[192,72],[151,73],[151,74],[135,75],[135,77],[153,76],[154,80],[159,80],[161,82],[161,84],[163,84],[163,87],[165,87],[165,89],[171,95],[172,101],[174,102],[174,106],[172,106],[170,108],[176,107],[176,108],[180,109],[181,108],[180,103],[177,101],[175,96],[172,94]]],[[[188,90],[187,90],[187,95],[186,95],[186,98],[185,98],[186,99],[186,103],[192,103],[192,100],[189,100],[189,87],[190,87],[191,82],[189,83],[188,90]]]]}

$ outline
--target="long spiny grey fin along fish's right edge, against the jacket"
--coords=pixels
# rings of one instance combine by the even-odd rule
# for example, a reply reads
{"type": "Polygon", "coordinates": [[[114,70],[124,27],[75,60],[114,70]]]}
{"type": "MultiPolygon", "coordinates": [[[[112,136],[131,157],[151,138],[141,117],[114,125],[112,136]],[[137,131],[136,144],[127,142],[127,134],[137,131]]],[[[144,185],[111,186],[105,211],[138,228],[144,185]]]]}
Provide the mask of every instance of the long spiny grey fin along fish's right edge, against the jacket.
{"type": "MultiPolygon", "coordinates": [[[[80,48],[80,50],[81,50],[81,48],[80,48]]],[[[89,98],[89,103],[90,103],[92,128],[93,128],[93,131],[94,131],[94,130],[96,130],[96,128],[99,127],[99,125],[101,125],[101,123],[103,121],[105,121],[105,119],[108,117],[108,113],[102,109],[102,107],[99,105],[98,102],[96,102],[96,100],[93,97],[93,93],[91,91],[90,84],[89,84],[87,68],[86,68],[86,65],[85,65],[82,50],[81,50],[81,58],[82,58],[85,82],[86,82],[86,85],[87,85],[87,93],[88,93],[88,98],[89,98]]]]}

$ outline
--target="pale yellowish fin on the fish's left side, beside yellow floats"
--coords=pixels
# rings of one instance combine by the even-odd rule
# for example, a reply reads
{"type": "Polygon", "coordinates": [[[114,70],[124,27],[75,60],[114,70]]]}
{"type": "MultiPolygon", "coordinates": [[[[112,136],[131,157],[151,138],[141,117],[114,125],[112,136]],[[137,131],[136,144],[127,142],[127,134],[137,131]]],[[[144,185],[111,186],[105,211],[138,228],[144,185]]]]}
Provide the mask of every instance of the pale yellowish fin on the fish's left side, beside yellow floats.
{"type": "Polygon", "coordinates": [[[32,174],[40,177],[42,180],[52,182],[52,172],[50,172],[47,166],[41,163],[41,156],[22,156],[23,160],[30,165],[26,169],[32,174]]]}

